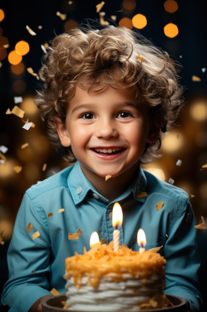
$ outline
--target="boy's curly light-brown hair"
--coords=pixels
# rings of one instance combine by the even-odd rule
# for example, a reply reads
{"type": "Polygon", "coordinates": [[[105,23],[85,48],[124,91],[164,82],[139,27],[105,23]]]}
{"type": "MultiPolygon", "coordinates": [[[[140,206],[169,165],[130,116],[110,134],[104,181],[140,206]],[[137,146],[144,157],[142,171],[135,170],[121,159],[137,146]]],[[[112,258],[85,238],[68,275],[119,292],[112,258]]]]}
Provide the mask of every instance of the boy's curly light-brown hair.
{"type": "MultiPolygon", "coordinates": [[[[75,87],[83,79],[88,81],[87,89],[95,92],[106,84],[117,89],[134,88],[138,102],[147,105],[151,115],[163,119],[157,141],[146,143],[142,163],[156,157],[162,134],[175,124],[184,104],[183,87],[169,54],[125,27],[78,27],[57,35],[47,47],[42,63],[39,76],[43,86],[37,91],[35,103],[49,139],[57,148],[61,143],[54,118],[65,123],[75,87]]],[[[70,147],[61,148],[65,159],[75,161],[70,147]]]]}

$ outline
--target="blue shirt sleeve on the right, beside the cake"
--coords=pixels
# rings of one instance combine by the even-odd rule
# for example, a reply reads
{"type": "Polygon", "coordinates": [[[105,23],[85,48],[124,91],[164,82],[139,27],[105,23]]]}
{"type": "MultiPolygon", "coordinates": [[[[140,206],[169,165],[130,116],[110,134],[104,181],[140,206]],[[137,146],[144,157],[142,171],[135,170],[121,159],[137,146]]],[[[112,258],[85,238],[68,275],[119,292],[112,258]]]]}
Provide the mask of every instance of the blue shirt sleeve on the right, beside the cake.
{"type": "Polygon", "coordinates": [[[189,200],[185,207],[181,205],[179,208],[164,246],[164,257],[167,260],[164,292],[187,299],[191,312],[197,312],[201,305],[201,293],[197,277],[200,259],[196,220],[189,200]]]}

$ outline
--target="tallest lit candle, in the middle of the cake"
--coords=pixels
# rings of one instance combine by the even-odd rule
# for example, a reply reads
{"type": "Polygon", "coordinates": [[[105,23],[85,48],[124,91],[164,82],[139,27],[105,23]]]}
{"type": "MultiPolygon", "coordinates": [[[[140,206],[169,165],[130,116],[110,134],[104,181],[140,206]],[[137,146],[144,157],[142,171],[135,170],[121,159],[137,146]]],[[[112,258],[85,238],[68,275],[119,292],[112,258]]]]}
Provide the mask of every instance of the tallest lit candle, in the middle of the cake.
{"type": "Polygon", "coordinates": [[[115,202],[112,209],[112,225],[114,228],[116,228],[113,232],[113,245],[115,252],[118,252],[119,250],[120,231],[117,228],[122,225],[122,221],[123,221],[122,207],[118,202],[115,202]]]}

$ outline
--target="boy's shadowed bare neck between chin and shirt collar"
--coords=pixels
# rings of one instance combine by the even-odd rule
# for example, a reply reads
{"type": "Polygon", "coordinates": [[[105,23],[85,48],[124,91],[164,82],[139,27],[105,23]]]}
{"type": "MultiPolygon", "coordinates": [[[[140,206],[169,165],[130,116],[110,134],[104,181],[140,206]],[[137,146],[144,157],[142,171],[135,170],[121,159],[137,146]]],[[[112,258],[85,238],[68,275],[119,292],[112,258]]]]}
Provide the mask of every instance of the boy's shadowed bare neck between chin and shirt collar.
{"type": "Polygon", "coordinates": [[[137,168],[138,163],[127,172],[116,177],[111,177],[107,181],[92,171],[87,172],[87,178],[101,195],[113,201],[127,190],[137,174],[137,168]]]}

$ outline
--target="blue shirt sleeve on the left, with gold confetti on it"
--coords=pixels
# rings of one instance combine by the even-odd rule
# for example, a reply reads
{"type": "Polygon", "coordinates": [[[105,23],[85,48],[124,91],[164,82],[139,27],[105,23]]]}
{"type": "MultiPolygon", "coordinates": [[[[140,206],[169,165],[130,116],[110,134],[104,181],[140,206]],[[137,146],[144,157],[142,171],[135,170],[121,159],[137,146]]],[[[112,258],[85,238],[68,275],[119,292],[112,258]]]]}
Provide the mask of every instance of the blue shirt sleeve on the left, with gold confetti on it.
{"type": "Polygon", "coordinates": [[[50,246],[47,217],[25,193],[8,248],[9,279],[1,296],[10,312],[27,312],[40,297],[51,295],[50,246]]]}

